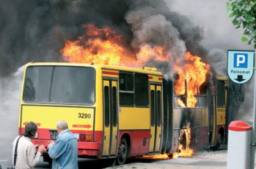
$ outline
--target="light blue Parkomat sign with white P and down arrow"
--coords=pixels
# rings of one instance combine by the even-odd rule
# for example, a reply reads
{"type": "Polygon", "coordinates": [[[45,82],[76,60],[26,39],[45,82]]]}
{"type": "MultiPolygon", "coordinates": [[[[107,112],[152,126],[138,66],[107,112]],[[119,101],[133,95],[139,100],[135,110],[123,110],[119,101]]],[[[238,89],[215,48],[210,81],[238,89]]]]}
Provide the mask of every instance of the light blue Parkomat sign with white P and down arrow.
{"type": "Polygon", "coordinates": [[[253,50],[228,50],[228,76],[238,84],[250,81],[254,72],[253,50]]]}

